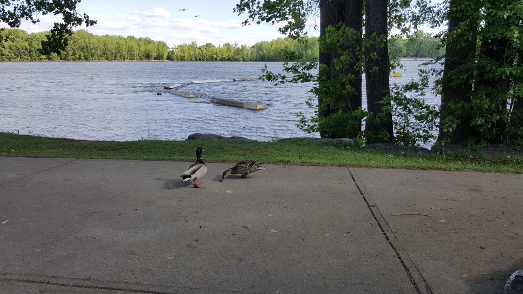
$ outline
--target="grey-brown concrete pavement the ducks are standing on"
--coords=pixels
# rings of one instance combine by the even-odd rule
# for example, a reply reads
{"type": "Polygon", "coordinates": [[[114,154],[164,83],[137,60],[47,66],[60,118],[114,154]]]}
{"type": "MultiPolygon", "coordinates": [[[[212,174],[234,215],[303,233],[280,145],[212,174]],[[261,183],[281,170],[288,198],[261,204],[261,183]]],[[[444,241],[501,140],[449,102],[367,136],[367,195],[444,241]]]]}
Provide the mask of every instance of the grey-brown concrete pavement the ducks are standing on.
{"type": "Polygon", "coordinates": [[[0,157],[0,293],[502,293],[521,174],[0,157]]]}

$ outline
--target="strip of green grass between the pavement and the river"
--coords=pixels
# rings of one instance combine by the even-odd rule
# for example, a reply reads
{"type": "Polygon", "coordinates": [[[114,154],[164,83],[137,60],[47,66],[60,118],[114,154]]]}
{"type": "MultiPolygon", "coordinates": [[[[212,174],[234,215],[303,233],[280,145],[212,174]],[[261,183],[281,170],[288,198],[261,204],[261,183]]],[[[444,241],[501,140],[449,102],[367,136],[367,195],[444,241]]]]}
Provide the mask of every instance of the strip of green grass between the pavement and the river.
{"type": "Polygon", "coordinates": [[[523,173],[521,160],[491,161],[456,154],[417,155],[365,148],[348,149],[335,143],[300,139],[249,141],[85,141],[0,133],[0,155],[77,159],[194,161],[196,147],[206,162],[257,160],[276,164],[338,165],[410,169],[442,169],[523,173]]]}

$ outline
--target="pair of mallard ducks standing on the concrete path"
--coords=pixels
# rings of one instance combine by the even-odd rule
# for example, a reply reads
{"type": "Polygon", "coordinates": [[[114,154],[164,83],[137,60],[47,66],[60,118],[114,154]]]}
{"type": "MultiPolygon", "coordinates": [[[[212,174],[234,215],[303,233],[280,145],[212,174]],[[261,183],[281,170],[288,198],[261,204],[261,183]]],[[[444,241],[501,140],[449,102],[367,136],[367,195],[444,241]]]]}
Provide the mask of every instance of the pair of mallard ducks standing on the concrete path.
{"type": "MultiPolygon", "coordinates": [[[[196,163],[193,163],[187,167],[184,174],[181,175],[181,180],[185,180],[188,182],[189,180],[192,180],[195,184],[195,188],[199,188],[201,185],[200,182],[198,182],[198,179],[200,179],[202,176],[204,176],[207,173],[207,165],[201,160],[201,153],[203,152],[203,149],[201,147],[198,147],[196,149],[196,163]]],[[[260,169],[265,169],[265,167],[261,166],[261,163],[256,161],[248,161],[248,160],[242,160],[238,162],[235,166],[226,169],[222,174],[222,179],[220,182],[223,181],[224,178],[226,178],[228,175],[236,175],[236,174],[242,174],[241,178],[246,178],[248,174],[254,173],[256,171],[259,171],[260,169]]]]}

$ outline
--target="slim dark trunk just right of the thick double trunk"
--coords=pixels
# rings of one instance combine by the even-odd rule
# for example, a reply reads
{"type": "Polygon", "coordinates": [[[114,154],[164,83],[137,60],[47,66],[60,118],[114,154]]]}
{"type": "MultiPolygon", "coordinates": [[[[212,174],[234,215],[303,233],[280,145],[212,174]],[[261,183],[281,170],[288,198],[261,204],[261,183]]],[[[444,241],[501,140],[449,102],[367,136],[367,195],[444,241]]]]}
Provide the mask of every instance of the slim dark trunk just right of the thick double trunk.
{"type": "Polygon", "coordinates": [[[387,44],[388,24],[387,6],[389,0],[366,0],[365,2],[365,38],[370,41],[365,47],[365,80],[367,87],[367,109],[378,120],[367,119],[366,130],[373,135],[369,143],[389,142],[394,139],[392,112],[383,111],[391,107],[390,101],[379,103],[390,94],[389,87],[389,47],[387,44]],[[374,56],[374,54],[376,54],[374,56]],[[388,138],[377,137],[385,132],[388,138]]]}

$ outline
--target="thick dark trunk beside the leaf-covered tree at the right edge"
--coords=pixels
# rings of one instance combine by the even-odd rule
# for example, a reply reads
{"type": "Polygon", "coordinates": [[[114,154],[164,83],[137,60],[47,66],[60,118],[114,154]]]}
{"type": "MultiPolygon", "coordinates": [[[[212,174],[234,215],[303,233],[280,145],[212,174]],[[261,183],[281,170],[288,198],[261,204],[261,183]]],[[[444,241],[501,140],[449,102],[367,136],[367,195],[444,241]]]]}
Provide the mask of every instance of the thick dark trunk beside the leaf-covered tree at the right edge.
{"type": "MultiPolygon", "coordinates": [[[[450,139],[460,143],[471,135],[471,118],[465,111],[452,109],[450,104],[459,105],[464,110],[470,103],[473,73],[461,70],[464,64],[471,64],[476,49],[479,20],[479,0],[450,0],[449,36],[445,49],[445,65],[441,85],[441,114],[438,141],[450,139]],[[461,112],[461,113],[460,113],[461,112]],[[463,114],[464,113],[464,114],[463,114]],[[447,119],[457,119],[451,132],[444,129],[447,119]]],[[[451,123],[452,124],[452,123],[451,123]]]]}

